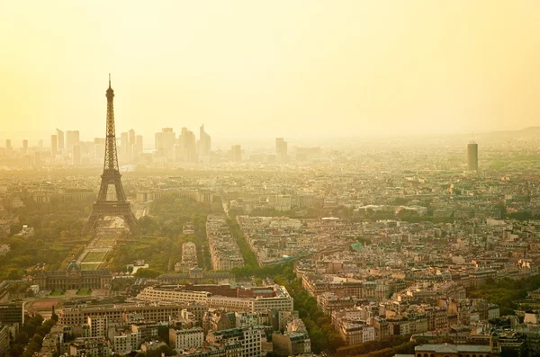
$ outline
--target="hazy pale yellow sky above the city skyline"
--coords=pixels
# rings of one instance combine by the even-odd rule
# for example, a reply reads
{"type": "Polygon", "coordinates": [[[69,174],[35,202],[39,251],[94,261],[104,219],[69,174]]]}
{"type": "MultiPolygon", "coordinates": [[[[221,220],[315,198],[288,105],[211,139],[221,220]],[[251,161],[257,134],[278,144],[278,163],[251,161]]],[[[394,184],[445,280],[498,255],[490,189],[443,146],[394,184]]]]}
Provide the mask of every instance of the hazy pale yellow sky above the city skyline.
{"type": "Polygon", "coordinates": [[[4,136],[103,137],[109,72],[119,133],[522,129],[540,124],[540,1],[0,0],[4,136]]]}

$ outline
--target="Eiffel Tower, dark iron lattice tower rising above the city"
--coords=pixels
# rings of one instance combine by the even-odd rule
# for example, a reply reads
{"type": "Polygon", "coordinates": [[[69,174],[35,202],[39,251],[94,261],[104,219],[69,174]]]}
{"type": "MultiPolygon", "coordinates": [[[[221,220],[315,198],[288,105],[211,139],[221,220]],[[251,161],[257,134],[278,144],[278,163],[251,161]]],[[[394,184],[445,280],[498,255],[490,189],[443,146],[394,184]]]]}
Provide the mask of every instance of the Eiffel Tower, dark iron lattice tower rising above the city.
{"type": "Polygon", "coordinates": [[[92,213],[86,220],[83,235],[87,235],[95,227],[98,219],[105,216],[120,217],[124,220],[130,231],[137,226],[135,215],[131,211],[130,202],[126,199],[126,193],[121,185],[121,174],[118,170],[118,156],[116,154],[116,129],[114,128],[114,108],[112,99],[114,91],[111,88],[111,75],[109,74],[109,88],[105,94],[107,97],[107,137],[105,139],[105,161],[103,164],[102,182],[97,195],[97,201],[92,206],[92,213]],[[109,186],[114,186],[116,200],[107,201],[109,186]]]}

